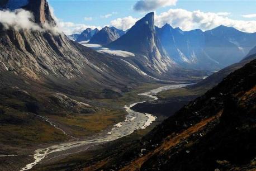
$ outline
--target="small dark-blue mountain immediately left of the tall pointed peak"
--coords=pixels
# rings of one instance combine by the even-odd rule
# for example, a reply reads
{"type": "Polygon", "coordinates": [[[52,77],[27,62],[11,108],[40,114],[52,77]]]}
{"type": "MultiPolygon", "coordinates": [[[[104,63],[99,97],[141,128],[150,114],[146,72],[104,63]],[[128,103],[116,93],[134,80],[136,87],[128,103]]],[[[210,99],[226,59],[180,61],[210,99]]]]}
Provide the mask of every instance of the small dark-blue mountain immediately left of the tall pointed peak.
{"type": "Polygon", "coordinates": [[[89,44],[106,45],[112,41],[115,41],[124,34],[125,32],[122,30],[119,30],[115,27],[106,26],[102,28],[102,30],[98,31],[97,34],[92,36],[91,40],[89,41],[89,44]]]}

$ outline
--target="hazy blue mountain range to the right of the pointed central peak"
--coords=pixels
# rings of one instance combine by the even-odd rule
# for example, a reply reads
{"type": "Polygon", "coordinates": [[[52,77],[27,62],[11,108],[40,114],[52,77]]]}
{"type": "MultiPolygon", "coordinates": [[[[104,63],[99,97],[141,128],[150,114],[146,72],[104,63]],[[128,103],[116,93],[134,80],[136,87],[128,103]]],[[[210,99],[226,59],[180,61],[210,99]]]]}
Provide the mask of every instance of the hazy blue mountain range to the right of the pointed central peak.
{"type": "Polygon", "coordinates": [[[240,61],[256,45],[256,33],[222,25],[205,32],[182,31],[168,24],[156,30],[169,58],[193,69],[219,70],[240,61]]]}

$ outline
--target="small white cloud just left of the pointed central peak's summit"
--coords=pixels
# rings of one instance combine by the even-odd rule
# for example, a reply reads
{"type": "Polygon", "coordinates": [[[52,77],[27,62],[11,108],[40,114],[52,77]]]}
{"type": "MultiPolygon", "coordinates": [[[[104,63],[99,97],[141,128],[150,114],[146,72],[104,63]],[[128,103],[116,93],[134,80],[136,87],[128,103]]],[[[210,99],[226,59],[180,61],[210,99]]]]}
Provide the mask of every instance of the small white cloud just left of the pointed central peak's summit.
{"type": "Polygon", "coordinates": [[[116,20],[111,21],[111,25],[122,30],[127,30],[131,28],[139,18],[134,17],[125,17],[125,18],[117,18],[116,20]]]}

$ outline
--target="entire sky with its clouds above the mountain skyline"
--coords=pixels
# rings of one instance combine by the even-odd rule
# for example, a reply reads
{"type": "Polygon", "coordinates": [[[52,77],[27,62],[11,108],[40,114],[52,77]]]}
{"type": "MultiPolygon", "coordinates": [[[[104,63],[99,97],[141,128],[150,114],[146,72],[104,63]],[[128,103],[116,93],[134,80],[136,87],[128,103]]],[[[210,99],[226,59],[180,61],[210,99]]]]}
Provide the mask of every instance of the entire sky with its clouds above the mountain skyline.
{"type": "Polygon", "coordinates": [[[126,30],[148,12],[155,25],[169,23],[182,30],[210,30],[219,25],[256,32],[256,1],[193,0],[49,0],[65,34],[87,27],[115,26],[126,30]]]}

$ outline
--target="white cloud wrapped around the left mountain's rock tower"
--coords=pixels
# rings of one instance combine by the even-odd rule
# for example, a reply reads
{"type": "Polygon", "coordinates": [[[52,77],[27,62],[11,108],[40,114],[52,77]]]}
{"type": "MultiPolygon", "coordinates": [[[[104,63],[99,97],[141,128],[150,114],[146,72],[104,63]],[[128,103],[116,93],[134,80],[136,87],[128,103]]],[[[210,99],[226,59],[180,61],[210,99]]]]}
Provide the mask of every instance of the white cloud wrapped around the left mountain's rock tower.
{"type": "Polygon", "coordinates": [[[0,11],[0,22],[5,28],[43,30],[39,25],[32,22],[33,20],[32,13],[26,10],[0,11]]]}

